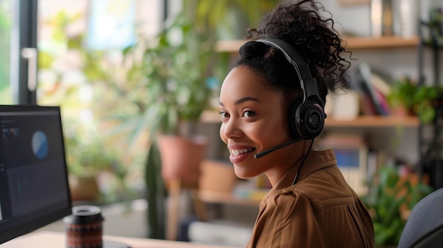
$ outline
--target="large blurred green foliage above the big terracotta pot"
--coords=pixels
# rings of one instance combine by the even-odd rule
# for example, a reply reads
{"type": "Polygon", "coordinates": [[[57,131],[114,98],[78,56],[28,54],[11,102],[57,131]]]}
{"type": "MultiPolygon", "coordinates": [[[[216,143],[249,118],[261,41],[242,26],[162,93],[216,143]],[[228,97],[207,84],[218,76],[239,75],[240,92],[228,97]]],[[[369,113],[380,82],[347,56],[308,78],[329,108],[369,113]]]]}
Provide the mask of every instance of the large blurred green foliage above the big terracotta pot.
{"type": "Polygon", "coordinates": [[[216,55],[214,41],[181,14],[154,39],[141,38],[125,49],[132,63],[130,97],[138,110],[134,134],[181,134],[180,124],[197,122],[207,108],[216,55]]]}

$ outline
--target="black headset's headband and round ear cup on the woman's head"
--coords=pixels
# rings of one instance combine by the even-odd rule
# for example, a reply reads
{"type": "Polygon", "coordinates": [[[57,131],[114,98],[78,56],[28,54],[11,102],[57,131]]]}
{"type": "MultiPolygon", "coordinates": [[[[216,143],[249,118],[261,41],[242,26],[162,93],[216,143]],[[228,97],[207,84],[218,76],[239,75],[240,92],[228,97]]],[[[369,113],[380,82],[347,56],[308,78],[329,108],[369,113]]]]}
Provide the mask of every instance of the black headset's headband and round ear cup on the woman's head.
{"type": "Polygon", "coordinates": [[[316,78],[311,76],[309,66],[292,45],[278,38],[255,40],[279,49],[289,64],[294,66],[299,78],[303,99],[289,107],[289,128],[296,138],[313,139],[323,130],[326,114],[325,104],[318,95],[316,78]]]}

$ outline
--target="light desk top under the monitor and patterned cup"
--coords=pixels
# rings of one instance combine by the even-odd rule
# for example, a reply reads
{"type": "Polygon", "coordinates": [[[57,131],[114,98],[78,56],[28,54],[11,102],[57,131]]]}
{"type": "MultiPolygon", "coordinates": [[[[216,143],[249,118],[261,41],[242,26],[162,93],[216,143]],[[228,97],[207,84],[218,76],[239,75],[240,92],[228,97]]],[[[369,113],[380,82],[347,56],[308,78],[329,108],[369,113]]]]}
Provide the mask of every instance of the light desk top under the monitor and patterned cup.
{"type": "MultiPolygon", "coordinates": [[[[133,248],[229,248],[209,244],[192,244],[189,242],[178,242],[168,240],[151,240],[137,237],[103,236],[103,240],[122,242],[133,248]]],[[[0,248],[64,248],[66,247],[66,235],[64,232],[37,231],[28,235],[16,237],[0,248]]],[[[234,247],[231,247],[234,248],[234,247]]],[[[238,248],[238,247],[236,247],[238,248]]]]}

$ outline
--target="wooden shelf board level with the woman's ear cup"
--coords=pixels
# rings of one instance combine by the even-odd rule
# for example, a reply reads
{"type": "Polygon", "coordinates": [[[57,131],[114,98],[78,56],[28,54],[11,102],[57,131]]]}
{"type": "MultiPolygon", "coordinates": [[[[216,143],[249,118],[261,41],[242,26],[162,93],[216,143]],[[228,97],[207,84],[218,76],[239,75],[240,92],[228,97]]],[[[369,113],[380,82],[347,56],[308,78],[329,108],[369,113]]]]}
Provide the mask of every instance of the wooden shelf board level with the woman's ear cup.
{"type": "MultiPolygon", "coordinates": [[[[220,123],[220,114],[215,111],[205,111],[202,113],[200,120],[205,123],[220,123]]],[[[351,120],[338,120],[326,118],[326,127],[418,127],[420,121],[418,117],[381,117],[381,116],[360,116],[351,120]]]]}

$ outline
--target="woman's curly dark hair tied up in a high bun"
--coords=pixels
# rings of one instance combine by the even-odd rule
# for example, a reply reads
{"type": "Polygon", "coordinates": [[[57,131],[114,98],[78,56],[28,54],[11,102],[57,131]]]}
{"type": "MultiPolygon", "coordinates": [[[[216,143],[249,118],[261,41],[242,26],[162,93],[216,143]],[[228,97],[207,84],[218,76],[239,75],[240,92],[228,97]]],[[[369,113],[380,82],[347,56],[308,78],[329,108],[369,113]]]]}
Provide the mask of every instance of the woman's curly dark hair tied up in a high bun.
{"type": "MultiPolygon", "coordinates": [[[[283,1],[267,14],[256,29],[248,30],[249,39],[275,37],[292,45],[309,65],[316,78],[318,93],[326,102],[328,90],[337,92],[348,83],[346,70],[350,62],[342,57],[345,47],[334,28],[332,14],[316,1],[283,1]],[[329,17],[321,16],[321,11],[329,17]]],[[[301,94],[294,82],[294,68],[282,52],[261,42],[246,42],[240,50],[235,66],[248,66],[264,76],[272,89],[289,93],[292,98],[301,94]]]]}

